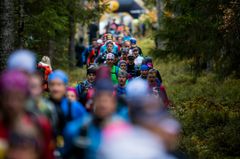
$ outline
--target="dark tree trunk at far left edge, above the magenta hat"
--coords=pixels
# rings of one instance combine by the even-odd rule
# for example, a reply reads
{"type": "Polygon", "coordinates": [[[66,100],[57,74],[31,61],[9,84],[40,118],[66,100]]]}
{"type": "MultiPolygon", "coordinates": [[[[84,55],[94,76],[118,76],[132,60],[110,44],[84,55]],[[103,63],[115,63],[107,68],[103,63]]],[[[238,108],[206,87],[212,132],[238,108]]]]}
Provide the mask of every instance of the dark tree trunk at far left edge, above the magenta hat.
{"type": "Polygon", "coordinates": [[[6,67],[6,61],[14,50],[14,0],[0,2],[0,71],[6,67]]]}

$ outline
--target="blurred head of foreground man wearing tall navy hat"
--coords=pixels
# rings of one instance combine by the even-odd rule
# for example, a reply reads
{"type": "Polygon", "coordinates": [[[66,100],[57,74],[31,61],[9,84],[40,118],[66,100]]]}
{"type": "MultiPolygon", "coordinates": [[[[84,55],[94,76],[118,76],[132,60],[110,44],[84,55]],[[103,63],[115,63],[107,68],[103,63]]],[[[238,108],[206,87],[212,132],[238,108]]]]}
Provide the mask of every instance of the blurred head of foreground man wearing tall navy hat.
{"type": "Polygon", "coordinates": [[[95,86],[93,97],[94,116],[98,119],[106,119],[114,114],[116,110],[116,97],[111,80],[99,80],[95,86]]]}

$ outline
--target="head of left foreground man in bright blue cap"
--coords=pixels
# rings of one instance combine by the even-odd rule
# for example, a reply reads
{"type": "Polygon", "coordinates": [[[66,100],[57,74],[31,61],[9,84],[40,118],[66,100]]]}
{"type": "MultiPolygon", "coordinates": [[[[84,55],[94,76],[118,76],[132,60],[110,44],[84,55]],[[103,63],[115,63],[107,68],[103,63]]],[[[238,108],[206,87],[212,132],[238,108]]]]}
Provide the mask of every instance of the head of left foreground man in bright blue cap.
{"type": "Polygon", "coordinates": [[[61,101],[66,94],[68,76],[62,70],[53,71],[48,77],[49,93],[53,100],[61,101]]]}

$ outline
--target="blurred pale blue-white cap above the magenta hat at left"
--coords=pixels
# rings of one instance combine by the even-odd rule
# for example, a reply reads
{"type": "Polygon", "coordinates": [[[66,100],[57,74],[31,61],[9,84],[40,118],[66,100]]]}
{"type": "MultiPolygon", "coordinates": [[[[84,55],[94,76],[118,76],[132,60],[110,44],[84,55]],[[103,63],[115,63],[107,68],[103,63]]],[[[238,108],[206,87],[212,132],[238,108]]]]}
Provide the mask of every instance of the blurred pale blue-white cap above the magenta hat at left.
{"type": "Polygon", "coordinates": [[[29,50],[16,50],[9,56],[7,68],[33,73],[36,70],[35,54],[29,50]]]}

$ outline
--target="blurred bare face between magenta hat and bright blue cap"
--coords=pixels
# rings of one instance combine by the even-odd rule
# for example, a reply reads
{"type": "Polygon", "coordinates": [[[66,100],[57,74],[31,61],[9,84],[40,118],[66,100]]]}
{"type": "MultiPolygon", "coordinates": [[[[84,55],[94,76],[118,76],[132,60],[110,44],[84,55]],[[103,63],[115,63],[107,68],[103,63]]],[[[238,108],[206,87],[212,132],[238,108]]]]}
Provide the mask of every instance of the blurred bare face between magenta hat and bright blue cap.
{"type": "Polygon", "coordinates": [[[37,100],[42,96],[42,76],[39,73],[34,73],[29,77],[29,92],[30,96],[37,100]]]}

